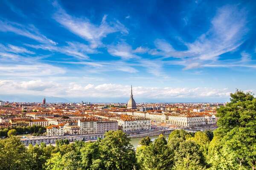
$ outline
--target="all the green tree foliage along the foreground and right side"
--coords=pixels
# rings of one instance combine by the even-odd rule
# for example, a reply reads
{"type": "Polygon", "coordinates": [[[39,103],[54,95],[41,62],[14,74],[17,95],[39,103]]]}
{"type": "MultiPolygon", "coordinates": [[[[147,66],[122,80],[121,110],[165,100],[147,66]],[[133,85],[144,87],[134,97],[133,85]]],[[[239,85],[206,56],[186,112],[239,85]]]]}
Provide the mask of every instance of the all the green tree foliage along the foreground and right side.
{"type": "Polygon", "coordinates": [[[249,170],[256,169],[256,99],[236,91],[217,110],[218,129],[188,133],[174,130],[168,142],[160,135],[140,141],[136,152],[121,130],[105,133],[96,142],[57,140],[27,148],[15,138],[43,127],[0,130],[0,170],[249,170]]]}

